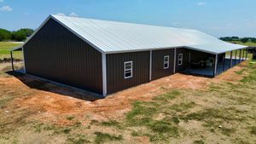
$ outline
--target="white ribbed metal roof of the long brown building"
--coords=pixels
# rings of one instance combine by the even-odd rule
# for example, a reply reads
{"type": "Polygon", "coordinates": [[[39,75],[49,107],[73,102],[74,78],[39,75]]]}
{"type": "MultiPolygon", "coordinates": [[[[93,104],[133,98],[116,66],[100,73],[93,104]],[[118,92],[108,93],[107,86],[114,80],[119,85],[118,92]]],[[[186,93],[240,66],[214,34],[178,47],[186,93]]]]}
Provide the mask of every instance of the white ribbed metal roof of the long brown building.
{"type": "Polygon", "coordinates": [[[187,47],[212,54],[246,48],[190,29],[50,15],[102,53],[187,47]]]}

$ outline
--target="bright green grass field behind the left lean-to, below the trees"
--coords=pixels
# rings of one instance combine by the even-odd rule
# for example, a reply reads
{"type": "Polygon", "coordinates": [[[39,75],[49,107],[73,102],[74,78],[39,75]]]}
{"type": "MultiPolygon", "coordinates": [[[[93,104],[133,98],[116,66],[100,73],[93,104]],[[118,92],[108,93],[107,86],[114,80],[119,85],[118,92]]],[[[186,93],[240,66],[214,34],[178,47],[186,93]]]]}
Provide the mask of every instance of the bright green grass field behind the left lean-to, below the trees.
{"type": "MultiPolygon", "coordinates": [[[[0,59],[10,58],[9,50],[19,46],[20,43],[0,42],[0,59]]],[[[21,51],[14,52],[15,59],[23,59],[21,51]]]]}

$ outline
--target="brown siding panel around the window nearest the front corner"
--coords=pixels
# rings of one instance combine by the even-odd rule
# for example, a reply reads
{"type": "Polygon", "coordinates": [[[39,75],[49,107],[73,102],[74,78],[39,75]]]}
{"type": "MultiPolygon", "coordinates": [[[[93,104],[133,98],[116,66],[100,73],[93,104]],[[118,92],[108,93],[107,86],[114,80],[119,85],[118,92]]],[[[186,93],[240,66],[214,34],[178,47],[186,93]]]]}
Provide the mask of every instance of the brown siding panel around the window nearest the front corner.
{"type": "Polygon", "coordinates": [[[106,55],[108,94],[138,84],[148,83],[149,55],[149,51],[106,55]],[[125,61],[132,61],[132,78],[124,78],[125,61]]]}

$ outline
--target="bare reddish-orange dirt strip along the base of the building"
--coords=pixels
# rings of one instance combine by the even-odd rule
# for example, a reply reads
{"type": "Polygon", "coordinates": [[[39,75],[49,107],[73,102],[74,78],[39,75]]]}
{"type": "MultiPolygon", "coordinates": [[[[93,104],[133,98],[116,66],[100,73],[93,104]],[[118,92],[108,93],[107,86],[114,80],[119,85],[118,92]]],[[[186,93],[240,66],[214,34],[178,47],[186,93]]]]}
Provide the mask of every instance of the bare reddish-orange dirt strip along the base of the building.
{"type": "Polygon", "coordinates": [[[220,81],[236,82],[241,77],[235,72],[241,71],[241,66],[235,66],[217,78],[202,78],[183,74],[175,74],[160,78],[148,84],[142,84],[131,89],[125,89],[105,99],[93,101],[90,95],[78,90],[57,86],[39,81],[29,76],[2,77],[0,84],[3,95],[15,95],[11,106],[26,107],[33,113],[31,118],[55,124],[72,124],[68,116],[90,123],[90,120],[106,120],[108,118],[123,118],[124,113],[131,110],[132,101],[149,101],[153,96],[160,95],[168,89],[207,89],[211,83],[220,81]],[[83,98],[83,100],[78,99],[83,98]]]}

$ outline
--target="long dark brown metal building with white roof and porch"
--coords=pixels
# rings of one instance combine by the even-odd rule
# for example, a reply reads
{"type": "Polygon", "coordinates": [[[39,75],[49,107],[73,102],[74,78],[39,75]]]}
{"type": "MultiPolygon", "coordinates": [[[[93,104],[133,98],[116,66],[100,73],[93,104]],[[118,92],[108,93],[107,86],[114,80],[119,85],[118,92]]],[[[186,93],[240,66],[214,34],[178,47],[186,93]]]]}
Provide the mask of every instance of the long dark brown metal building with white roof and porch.
{"type": "Polygon", "coordinates": [[[215,77],[247,59],[246,46],[196,30],[59,15],[21,48],[26,73],[100,95],[175,72],[215,77]]]}

